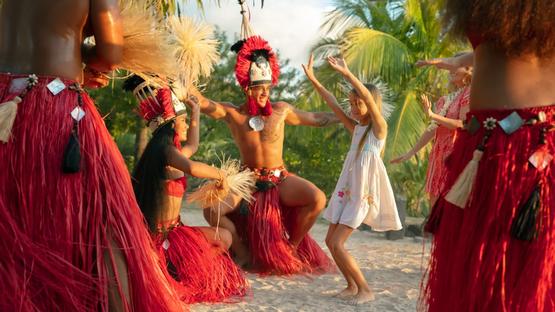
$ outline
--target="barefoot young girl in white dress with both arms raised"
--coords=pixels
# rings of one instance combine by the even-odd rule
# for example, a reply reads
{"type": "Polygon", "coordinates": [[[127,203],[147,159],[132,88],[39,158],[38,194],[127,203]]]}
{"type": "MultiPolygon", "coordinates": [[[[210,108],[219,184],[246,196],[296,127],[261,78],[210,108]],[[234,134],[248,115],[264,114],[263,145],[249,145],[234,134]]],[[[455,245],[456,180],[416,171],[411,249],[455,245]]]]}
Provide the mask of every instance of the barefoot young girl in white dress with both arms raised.
{"type": "Polygon", "coordinates": [[[362,84],[349,71],[345,59],[327,57],[330,66],[354,87],[349,94],[354,117],[351,118],[337,103],[337,99],[314,77],[313,58],[310,57],[308,67],[302,64],[306,76],[353,134],[351,148],[324,218],[331,222],[326,245],[347,280],[347,288],[336,294],[335,298],[352,296],[347,303],[357,305],[374,300],[374,294],[355,259],[345,250],[345,241],[361,223],[379,231],[401,229],[393,190],[381,159],[387,123],[381,115],[381,95],[376,85],[362,84]]]}

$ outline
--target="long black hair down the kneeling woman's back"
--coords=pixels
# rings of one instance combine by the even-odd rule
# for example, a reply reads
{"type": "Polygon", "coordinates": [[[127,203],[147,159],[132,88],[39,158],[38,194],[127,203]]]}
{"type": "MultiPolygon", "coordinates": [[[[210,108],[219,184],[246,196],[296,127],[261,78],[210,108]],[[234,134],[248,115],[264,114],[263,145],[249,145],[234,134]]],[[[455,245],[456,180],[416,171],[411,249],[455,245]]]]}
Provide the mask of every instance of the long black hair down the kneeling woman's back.
{"type": "Polygon", "coordinates": [[[133,190],[141,212],[153,233],[158,232],[158,222],[167,220],[168,195],[166,194],[166,166],[168,152],[174,146],[175,120],[158,128],[144,149],[133,171],[133,190]]]}

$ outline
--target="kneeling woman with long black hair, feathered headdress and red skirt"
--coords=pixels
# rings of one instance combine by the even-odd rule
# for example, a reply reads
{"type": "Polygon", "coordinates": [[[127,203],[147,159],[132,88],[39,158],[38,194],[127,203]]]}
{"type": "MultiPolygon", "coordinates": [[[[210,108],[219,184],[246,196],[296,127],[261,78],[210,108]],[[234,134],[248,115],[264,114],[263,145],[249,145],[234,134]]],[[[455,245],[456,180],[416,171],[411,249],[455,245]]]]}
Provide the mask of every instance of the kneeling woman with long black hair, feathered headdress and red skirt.
{"type": "Polygon", "coordinates": [[[193,110],[189,128],[185,107],[170,89],[153,90],[138,76],[125,80],[123,88],[140,100],[140,111],[135,112],[153,130],[133,173],[133,188],[158,250],[178,282],[175,286],[181,299],[189,304],[242,299],[250,286],[243,271],[228,258],[229,231],[188,227],[179,217],[187,185],[184,173],[218,180],[221,188],[227,186],[224,172],[189,159],[199,145],[198,104],[187,101],[193,110]],[[181,148],[188,129],[190,140],[181,148]]]}

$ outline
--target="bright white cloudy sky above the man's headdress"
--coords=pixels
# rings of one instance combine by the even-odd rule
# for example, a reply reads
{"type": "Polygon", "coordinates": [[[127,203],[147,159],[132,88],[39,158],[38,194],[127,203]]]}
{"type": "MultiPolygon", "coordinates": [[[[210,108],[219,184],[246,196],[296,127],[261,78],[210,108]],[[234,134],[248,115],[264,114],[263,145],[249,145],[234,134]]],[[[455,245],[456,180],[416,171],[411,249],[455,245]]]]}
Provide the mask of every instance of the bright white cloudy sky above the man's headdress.
{"type": "MultiPolygon", "coordinates": [[[[332,0],[247,0],[250,24],[256,34],[266,39],[280,52],[282,58],[291,59],[290,66],[302,72],[302,63],[308,62],[309,47],[318,37],[325,12],[331,11],[332,0]]],[[[191,1],[192,2],[192,1],[191,1]]],[[[208,2],[208,1],[207,1],[208,2]]],[[[210,3],[204,9],[205,20],[218,25],[229,36],[239,33],[241,7],[236,0],[221,0],[221,8],[210,3]]],[[[199,15],[194,4],[185,14],[199,15]]]]}

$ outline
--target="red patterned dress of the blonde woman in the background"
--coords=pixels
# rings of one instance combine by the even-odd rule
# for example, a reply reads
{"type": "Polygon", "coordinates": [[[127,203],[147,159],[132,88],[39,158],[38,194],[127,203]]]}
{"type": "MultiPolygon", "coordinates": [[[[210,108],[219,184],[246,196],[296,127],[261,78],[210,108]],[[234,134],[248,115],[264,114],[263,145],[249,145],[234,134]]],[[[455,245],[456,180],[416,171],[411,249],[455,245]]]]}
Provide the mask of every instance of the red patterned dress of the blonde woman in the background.
{"type": "MultiPolygon", "coordinates": [[[[447,115],[445,117],[458,119],[461,107],[468,105],[468,96],[470,95],[470,85],[456,97],[451,103],[447,115]]],[[[437,101],[437,112],[441,112],[445,104],[445,97],[441,97],[437,101]]],[[[428,162],[428,172],[426,173],[426,188],[424,192],[430,195],[440,195],[445,188],[445,177],[447,175],[443,159],[447,157],[453,150],[455,143],[456,131],[438,124],[436,128],[436,138],[433,140],[432,150],[430,151],[430,161],[428,162]]]]}

